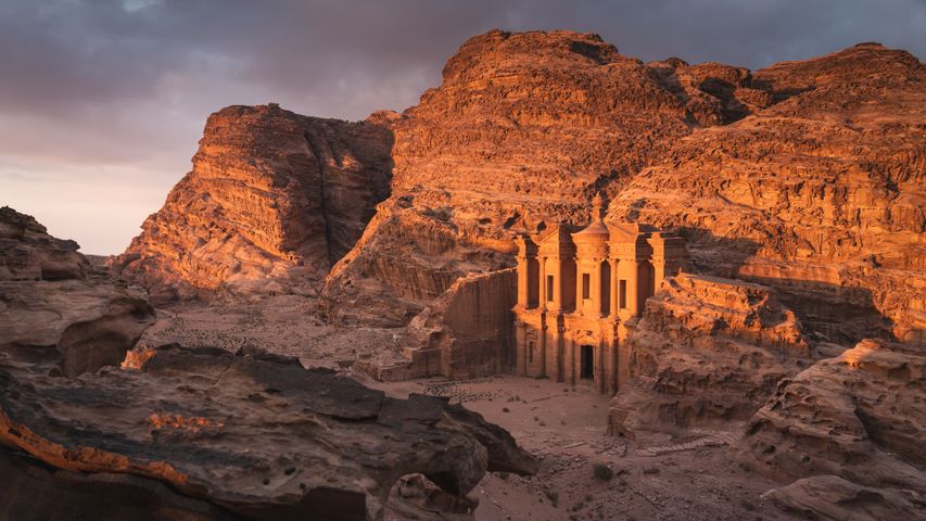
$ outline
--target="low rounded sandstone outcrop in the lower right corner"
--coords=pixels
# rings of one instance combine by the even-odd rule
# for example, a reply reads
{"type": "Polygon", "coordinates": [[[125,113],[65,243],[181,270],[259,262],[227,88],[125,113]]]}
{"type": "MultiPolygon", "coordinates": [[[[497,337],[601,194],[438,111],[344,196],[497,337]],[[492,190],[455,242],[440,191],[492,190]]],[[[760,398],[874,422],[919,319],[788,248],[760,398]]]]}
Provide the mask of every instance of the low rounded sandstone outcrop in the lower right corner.
{"type": "Polygon", "coordinates": [[[841,476],[926,505],[926,352],[864,340],[778,385],[750,419],[745,460],[778,479],[841,476]]]}

